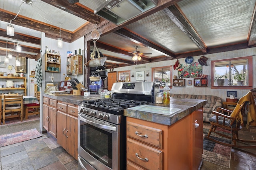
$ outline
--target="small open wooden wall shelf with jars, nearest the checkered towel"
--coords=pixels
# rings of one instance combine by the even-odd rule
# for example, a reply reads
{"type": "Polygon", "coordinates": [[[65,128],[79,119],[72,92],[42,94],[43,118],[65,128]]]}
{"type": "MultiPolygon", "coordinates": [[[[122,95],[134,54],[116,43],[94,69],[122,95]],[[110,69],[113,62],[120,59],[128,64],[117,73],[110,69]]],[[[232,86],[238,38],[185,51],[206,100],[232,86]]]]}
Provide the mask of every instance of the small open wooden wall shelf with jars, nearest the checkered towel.
{"type": "Polygon", "coordinates": [[[60,55],[45,54],[45,71],[60,72],[60,55]]]}

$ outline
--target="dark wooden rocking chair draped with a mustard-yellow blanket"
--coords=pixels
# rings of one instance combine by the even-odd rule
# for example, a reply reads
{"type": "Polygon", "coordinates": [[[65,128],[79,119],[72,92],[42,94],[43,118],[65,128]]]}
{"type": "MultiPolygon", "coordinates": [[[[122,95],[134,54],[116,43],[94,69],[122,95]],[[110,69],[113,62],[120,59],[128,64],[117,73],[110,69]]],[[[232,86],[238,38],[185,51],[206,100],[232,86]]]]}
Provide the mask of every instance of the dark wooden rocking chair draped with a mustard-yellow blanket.
{"type": "Polygon", "coordinates": [[[248,92],[245,96],[240,98],[238,104],[234,108],[233,111],[228,109],[223,109],[219,107],[217,111],[213,111],[212,113],[215,114],[213,117],[210,118],[211,128],[208,132],[207,139],[214,141],[215,143],[219,143],[222,145],[236,147],[236,148],[256,148],[256,145],[237,145],[237,141],[242,142],[243,144],[246,143],[256,143],[255,140],[242,140],[238,139],[238,131],[242,129],[243,125],[243,115],[247,112],[248,114],[248,123],[247,128],[249,127],[249,123],[256,120],[256,106],[254,102],[254,98],[252,92],[248,92]],[[227,113],[225,115],[224,113],[227,113]],[[221,129],[225,129],[225,133],[216,130],[219,127],[221,129]],[[229,133],[228,133],[229,131],[229,133]],[[232,143],[225,143],[222,141],[218,141],[217,138],[210,137],[211,133],[214,132],[217,135],[222,137],[228,138],[232,140],[232,143]]]}

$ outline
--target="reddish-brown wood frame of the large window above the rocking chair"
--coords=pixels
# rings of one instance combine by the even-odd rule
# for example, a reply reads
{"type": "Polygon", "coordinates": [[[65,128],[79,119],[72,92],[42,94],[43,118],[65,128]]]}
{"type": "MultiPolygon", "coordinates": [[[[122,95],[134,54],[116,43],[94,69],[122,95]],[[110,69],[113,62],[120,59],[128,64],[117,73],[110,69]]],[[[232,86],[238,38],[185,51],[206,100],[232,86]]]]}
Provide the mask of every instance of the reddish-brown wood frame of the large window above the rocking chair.
{"type": "Polygon", "coordinates": [[[232,59],[221,59],[211,61],[211,89],[252,89],[253,86],[253,66],[252,66],[252,56],[247,57],[237,57],[232,59]],[[214,86],[214,63],[232,60],[242,60],[248,59],[248,86],[214,86]]]}

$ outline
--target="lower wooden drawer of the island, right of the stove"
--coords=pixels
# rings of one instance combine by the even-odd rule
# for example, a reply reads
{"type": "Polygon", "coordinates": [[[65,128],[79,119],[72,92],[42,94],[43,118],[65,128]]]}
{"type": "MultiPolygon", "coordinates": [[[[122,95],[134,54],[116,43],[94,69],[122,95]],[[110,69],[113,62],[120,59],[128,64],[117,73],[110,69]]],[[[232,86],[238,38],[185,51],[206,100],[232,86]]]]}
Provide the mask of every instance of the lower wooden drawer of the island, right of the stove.
{"type": "Polygon", "coordinates": [[[127,139],[127,159],[135,162],[136,164],[146,168],[147,170],[162,170],[162,151],[144,145],[132,139],[127,139]],[[140,158],[148,158],[148,161],[141,160],[140,158]]]}

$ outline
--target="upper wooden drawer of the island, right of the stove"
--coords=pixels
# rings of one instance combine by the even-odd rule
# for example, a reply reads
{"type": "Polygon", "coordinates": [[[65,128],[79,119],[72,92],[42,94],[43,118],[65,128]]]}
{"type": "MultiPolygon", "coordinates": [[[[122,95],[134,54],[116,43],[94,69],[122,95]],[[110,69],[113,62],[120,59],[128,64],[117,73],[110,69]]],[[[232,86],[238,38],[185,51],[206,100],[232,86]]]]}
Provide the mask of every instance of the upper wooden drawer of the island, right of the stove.
{"type": "Polygon", "coordinates": [[[158,148],[163,148],[162,144],[162,130],[153,127],[140,125],[127,121],[127,136],[143,141],[158,148]],[[147,135],[148,137],[141,137],[139,135],[147,135]]]}

